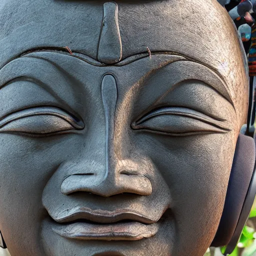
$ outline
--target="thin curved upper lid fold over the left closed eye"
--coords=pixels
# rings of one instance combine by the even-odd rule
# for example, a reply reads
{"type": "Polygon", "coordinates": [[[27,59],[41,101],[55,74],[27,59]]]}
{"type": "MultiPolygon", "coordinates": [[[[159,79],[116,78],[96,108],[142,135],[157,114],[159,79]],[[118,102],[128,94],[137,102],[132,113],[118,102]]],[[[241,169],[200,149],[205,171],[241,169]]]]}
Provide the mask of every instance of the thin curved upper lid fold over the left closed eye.
{"type": "Polygon", "coordinates": [[[0,128],[14,120],[34,115],[54,115],[65,120],[75,129],[80,130],[84,128],[84,123],[81,120],[64,110],[53,106],[32,107],[8,114],[0,120],[0,128]]]}

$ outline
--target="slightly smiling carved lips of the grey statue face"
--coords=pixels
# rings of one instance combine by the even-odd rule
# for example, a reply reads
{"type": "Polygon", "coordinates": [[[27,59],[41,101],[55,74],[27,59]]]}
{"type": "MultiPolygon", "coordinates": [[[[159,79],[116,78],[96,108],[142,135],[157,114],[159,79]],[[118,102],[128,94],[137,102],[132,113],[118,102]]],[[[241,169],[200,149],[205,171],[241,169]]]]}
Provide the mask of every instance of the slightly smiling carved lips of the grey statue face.
{"type": "Polygon", "coordinates": [[[60,236],[79,240],[140,240],[157,233],[159,219],[137,212],[114,212],[78,208],[54,218],[52,230],[60,236]]]}

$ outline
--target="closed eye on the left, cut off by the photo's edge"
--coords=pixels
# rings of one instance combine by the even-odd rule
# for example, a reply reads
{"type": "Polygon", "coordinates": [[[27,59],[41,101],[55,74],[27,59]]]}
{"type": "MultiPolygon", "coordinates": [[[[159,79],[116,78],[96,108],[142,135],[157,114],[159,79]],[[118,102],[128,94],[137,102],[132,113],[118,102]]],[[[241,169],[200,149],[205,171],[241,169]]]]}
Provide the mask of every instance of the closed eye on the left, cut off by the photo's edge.
{"type": "Polygon", "coordinates": [[[0,120],[0,132],[49,135],[81,130],[84,123],[70,113],[51,106],[32,107],[11,113],[0,120]]]}

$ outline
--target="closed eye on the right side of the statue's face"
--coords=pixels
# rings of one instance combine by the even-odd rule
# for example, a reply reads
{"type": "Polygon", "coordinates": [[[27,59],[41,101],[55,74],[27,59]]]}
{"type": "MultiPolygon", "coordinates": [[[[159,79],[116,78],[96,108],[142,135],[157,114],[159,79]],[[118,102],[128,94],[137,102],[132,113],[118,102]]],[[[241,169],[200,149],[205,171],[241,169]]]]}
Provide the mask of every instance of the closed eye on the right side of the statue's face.
{"type": "Polygon", "coordinates": [[[230,131],[225,120],[212,118],[186,107],[158,108],[134,121],[131,127],[173,136],[230,131]]]}

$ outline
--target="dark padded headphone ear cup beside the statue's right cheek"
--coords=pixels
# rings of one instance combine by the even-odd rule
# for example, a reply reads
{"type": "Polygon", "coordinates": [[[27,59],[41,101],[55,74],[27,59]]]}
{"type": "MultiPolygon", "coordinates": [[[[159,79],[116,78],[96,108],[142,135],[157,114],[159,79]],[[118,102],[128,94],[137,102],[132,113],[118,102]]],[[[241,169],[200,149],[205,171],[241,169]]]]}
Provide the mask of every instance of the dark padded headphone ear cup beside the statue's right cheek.
{"type": "Polygon", "coordinates": [[[222,216],[211,243],[214,247],[227,245],[225,253],[235,248],[255,197],[254,165],[255,142],[252,137],[239,134],[222,216]]]}

